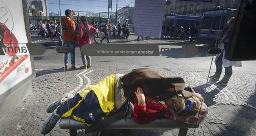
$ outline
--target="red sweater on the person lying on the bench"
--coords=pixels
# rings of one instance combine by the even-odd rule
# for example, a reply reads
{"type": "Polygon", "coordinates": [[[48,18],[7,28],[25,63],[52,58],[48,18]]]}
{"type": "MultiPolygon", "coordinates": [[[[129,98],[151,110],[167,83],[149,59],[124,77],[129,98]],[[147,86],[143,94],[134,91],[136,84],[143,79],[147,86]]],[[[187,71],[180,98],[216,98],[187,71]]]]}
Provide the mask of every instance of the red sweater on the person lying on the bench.
{"type": "Polygon", "coordinates": [[[134,104],[134,120],[138,124],[152,122],[168,111],[167,106],[162,103],[149,101],[146,102],[145,106],[139,106],[137,105],[137,102],[137,98],[132,100],[132,104],[134,104]]]}

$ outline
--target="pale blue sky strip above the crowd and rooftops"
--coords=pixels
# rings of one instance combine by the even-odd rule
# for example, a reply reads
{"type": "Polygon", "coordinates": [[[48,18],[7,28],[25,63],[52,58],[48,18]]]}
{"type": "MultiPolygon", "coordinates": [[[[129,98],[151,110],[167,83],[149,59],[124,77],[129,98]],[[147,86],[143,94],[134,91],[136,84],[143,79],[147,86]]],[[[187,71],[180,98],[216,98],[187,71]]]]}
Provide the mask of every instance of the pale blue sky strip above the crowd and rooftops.
{"type": "MultiPolygon", "coordinates": [[[[73,11],[92,11],[92,12],[108,12],[108,0],[60,0],[61,15],[64,15],[66,9],[73,11]]],[[[134,7],[135,0],[118,0],[118,9],[129,4],[134,7]]],[[[116,0],[112,2],[112,12],[116,11],[116,0]]],[[[58,13],[60,11],[59,0],[47,0],[48,12],[58,13]]],[[[110,9],[109,9],[110,12],[110,9]]]]}

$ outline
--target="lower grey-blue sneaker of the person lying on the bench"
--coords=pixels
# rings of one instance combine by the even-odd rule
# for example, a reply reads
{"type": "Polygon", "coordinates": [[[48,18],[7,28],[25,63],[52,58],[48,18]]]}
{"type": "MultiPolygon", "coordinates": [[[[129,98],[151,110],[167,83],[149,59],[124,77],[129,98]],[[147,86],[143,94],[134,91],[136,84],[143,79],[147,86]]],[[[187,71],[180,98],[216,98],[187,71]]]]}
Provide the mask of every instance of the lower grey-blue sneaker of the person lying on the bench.
{"type": "Polygon", "coordinates": [[[57,114],[55,110],[52,113],[52,115],[45,121],[41,130],[41,134],[46,135],[49,132],[51,132],[54,126],[56,125],[56,123],[58,122],[58,120],[60,120],[60,118],[61,118],[61,115],[57,114]]]}

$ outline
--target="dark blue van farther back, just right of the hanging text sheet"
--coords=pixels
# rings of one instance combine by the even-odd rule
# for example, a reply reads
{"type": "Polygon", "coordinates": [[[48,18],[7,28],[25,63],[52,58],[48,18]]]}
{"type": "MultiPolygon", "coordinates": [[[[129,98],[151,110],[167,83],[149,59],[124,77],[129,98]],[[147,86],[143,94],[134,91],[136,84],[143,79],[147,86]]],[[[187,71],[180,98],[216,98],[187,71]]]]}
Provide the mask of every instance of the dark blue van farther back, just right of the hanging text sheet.
{"type": "Polygon", "coordinates": [[[188,15],[171,15],[165,19],[165,33],[171,35],[171,37],[177,37],[179,34],[179,25],[182,25],[183,30],[188,24],[200,24],[203,17],[200,16],[188,16],[188,15]],[[168,31],[168,32],[167,32],[168,31]],[[171,33],[170,33],[171,32],[171,33]]]}

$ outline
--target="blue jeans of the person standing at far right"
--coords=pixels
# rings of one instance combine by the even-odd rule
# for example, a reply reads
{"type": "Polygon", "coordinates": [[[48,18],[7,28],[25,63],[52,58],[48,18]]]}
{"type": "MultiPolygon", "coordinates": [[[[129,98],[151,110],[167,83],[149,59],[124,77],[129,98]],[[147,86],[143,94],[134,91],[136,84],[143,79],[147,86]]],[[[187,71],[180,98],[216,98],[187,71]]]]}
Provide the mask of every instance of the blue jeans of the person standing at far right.
{"type": "MultiPolygon", "coordinates": [[[[223,51],[221,52],[220,56],[218,57],[218,59],[215,61],[215,65],[216,65],[216,73],[221,74],[222,72],[222,57],[223,57],[223,51]]],[[[224,77],[226,78],[230,78],[233,70],[232,70],[232,66],[230,67],[224,67],[225,68],[225,75],[224,77]]]]}

